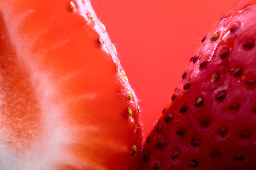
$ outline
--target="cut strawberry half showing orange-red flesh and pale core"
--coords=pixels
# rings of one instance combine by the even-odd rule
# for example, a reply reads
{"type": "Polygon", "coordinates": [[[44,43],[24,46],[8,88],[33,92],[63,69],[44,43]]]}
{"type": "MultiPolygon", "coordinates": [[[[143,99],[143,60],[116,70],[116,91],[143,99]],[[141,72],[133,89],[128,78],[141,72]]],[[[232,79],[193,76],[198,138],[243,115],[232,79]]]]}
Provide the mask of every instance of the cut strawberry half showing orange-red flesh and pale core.
{"type": "Polygon", "coordinates": [[[90,1],[0,4],[0,169],[137,169],[137,98],[90,1]]]}

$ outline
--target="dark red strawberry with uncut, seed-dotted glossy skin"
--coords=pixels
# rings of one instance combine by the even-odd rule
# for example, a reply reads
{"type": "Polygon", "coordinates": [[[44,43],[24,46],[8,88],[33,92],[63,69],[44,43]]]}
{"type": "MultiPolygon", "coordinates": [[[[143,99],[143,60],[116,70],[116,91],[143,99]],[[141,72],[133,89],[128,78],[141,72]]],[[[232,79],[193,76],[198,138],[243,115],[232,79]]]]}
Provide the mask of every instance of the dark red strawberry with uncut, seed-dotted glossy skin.
{"type": "Polygon", "coordinates": [[[256,169],[256,1],[221,18],[147,138],[143,169],[256,169]]]}

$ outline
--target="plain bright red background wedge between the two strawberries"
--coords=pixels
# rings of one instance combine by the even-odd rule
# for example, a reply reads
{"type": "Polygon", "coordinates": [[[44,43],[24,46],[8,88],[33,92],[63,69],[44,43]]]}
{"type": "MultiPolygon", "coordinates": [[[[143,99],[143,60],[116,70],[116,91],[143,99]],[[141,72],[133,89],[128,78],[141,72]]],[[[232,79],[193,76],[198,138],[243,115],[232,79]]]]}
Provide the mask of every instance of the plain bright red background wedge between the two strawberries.
{"type": "Polygon", "coordinates": [[[91,0],[142,108],[144,137],[203,35],[239,0],[91,0]]]}

